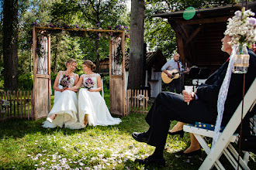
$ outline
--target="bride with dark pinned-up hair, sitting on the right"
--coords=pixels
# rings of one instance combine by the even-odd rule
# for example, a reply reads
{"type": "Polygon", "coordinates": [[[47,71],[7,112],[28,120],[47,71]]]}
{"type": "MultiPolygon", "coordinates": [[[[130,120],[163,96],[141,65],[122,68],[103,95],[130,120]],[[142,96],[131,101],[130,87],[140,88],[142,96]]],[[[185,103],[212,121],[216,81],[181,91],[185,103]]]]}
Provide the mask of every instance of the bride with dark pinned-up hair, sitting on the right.
{"type": "Polygon", "coordinates": [[[119,124],[121,119],[112,117],[106,102],[100,95],[102,90],[102,81],[99,73],[93,73],[95,64],[90,60],[85,60],[83,70],[85,74],[81,75],[77,85],[69,89],[76,90],[81,85],[84,88],[79,90],[78,94],[78,119],[80,128],[90,126],[108,126],[119,124]]]}

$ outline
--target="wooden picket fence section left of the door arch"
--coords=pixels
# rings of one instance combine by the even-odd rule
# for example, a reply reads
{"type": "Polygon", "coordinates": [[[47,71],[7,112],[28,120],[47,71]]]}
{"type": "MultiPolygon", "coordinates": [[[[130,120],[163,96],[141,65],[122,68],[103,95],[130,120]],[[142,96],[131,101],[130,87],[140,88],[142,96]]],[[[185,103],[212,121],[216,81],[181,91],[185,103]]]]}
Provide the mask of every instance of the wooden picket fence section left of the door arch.
{"type": "Polygon", "coordinates": [[[0,121],[10,118],[33,118],[32,91],[1,91],[0,96],[0,121]]]}

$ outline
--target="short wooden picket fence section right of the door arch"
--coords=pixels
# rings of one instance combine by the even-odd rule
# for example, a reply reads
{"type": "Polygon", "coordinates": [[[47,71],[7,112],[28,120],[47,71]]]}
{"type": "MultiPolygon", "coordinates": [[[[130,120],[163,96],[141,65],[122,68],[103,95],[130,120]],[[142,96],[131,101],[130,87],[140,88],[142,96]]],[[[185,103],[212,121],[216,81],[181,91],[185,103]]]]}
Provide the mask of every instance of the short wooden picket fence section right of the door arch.
{"type": "Polygon", "coordinates": [[[148,90],[126,90],[126,115],[130,112],[147,114],[148,90]]]}

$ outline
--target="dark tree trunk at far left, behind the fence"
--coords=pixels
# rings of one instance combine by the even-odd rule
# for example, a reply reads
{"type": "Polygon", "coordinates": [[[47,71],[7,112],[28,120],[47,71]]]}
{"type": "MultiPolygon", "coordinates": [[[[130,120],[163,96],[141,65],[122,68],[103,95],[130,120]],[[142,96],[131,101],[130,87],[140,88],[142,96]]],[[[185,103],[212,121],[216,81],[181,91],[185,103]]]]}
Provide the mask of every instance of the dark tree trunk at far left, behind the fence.
{"type": "Polygon", "coordinates": [[[5,90],[18,90],[18,0],[4,1],[3,16],[5,90]]]}

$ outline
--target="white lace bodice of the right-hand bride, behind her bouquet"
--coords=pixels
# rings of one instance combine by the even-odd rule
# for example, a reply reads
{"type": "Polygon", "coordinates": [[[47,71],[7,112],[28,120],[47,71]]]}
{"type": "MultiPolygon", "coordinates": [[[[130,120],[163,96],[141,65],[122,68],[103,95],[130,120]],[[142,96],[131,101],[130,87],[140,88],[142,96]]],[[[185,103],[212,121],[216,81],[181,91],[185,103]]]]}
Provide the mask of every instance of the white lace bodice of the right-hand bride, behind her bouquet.
{"type": "Polygon", "coordinates": [[[90,89],[90,88],[96,89],[98,87],[98,84],[97,84],[98,76],[100,76],[99,73],[81,75],[81,77],[83,77],[82,87],[85,87],[87,89],[90,89]]]}

